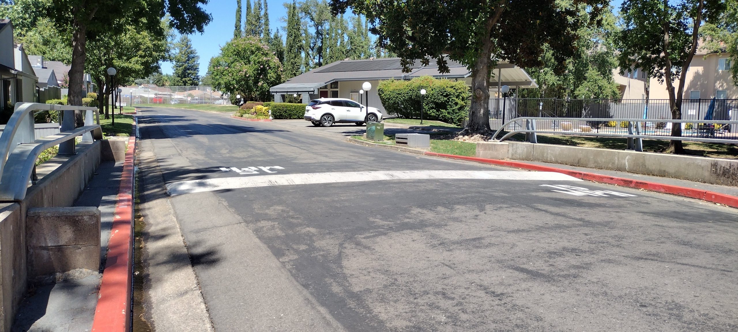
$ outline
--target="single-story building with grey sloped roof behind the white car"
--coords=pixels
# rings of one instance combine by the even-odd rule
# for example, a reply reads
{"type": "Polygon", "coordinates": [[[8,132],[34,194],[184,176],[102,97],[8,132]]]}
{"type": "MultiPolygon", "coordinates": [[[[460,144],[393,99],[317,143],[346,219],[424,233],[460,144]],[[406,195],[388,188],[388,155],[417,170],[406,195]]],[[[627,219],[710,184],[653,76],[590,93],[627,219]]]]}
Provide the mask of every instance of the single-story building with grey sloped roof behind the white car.
{"type": "MultiPolygon", "coordinates": [[[[285,83],[272,86],[269,91],[274,94],[277,103],[282,102],[285,95],[298,94],[301,95],[303,103],[323,97],[348,98],[384,111],[376,92],[380,80],[410,80],[430,76],[462,80],[467,85],[472,85],[472,72],[465,65],[448,60],[448,66],[449,72],[441,73],[438,72],[435,61],[423,66],[416,60],[412,71],[406,73],[402,72],[400,58],[340,60],[292,77],[285,83]],[[362,90],[364,82],[371,83],[372,88],[359,96],[359,90],[362,90]]],[[[494,67],[489,88],[492,94],[493,91],[497,91],[497,86],[510,86],[511,89],[538,87],[525,70],[506,61],[500,61],[494,67]]]]}

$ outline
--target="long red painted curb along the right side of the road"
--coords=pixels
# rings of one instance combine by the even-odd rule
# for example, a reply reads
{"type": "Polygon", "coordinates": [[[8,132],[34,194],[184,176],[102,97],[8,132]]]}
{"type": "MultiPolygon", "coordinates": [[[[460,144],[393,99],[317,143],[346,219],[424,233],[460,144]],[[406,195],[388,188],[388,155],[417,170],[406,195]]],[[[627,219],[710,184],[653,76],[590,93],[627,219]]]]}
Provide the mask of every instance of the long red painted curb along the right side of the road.
{"type": "Polygon", "coordinates": [[[618,176],[606,176],[606,175],[597,174],[597,173],[580,172],[579,170],[566,170],[564,168],[528,164],[527,162],[513,162],[510,160],[486,159],[486,158],[477,158],[477,157],[470,157],[470,156],[457,156],[455,154],[445,154],[445,153],[435,153],[435,152],[426,152],[425,154],[427,154],[428,156],[440,156],[444,158],[462,159],[462,160],[469,160],[472,162],[483,162],[486,164],[517,167],[517,168],[523,168],[525,170],[541,170],[545,172],[564,173],[564,174],[567,174],[568,176],[573,176],[577,179],[601,182],[601,183],[607,183],[607,184],[617,184],[618,186],[622,186],[622,187],[631,187],[631,188],[636,188],[636,189],[657,191],[659,193],[669,193],[669,194],[676,195],[676,196],[697,198],[703,201],[710,201],[713,203],[727,205],[728,207],[738,208],[738,197],[736,196],[730,196],[724,193],[714,193],[711,191],[700,190],[696,188],[680,187],[680,186],[674,186],[671,184],[662,184],[662,183],[651,182],[651,181],[639,181],[639,180],[621,178],[618,176]]]}

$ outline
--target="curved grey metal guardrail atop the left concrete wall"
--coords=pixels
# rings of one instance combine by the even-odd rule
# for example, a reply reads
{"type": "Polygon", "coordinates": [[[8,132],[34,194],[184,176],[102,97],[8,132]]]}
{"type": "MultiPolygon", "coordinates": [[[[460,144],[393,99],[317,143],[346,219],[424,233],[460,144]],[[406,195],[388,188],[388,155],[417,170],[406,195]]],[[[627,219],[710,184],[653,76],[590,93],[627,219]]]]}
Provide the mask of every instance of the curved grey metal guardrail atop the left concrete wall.
{"type": "Polygon", "coordinates": [[[16,103],[15,111],[0,135],[0,201],[23,200],[41,152],[80,135],[83,142],[103,139],[97,108],[16,103]],[[85,125],[36,139],[33,116],[41,111],[64,111],[65,117],[73,117],[74,111],[85,111],[85,125]]]}

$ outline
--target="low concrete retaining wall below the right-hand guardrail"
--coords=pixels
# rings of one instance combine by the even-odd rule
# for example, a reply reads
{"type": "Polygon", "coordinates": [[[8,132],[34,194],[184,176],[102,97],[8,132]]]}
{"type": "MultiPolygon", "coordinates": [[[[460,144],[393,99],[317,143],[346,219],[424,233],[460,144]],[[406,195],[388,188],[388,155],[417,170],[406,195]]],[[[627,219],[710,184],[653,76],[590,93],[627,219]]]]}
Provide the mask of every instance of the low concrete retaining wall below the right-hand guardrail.
{"type": "Polygon", "coordinates": [[[528,142],[479,142],[477,157],[621,170],[738,186],[738,160],[528,142]]]}

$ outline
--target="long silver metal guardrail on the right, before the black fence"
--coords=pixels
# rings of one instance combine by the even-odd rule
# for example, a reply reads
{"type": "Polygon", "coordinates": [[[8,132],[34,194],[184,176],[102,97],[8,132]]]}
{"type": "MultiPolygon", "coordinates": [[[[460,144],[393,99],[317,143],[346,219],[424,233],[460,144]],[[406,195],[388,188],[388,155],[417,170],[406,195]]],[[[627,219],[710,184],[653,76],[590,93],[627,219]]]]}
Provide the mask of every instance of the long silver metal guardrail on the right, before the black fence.
{"type": "MultiPolygon", "coordinates": [[[[692,142],[712,142],[712,143],[732,143],[738,144],[738,135],[735,131],[738,129],[738,121],[728,120],[665,120],[665,119],[612,119],[612,118],[581,118],[581,117],[517,117],[503,123],[494,136],[500,134],[508,125],[515,124],[512,131],[502,136],[499,142],[502,142],[514,134],[525,134],[527,142],[536,143],[538,141],[536,134],[554,134],[563,136],[606,136],[621,137],[628,140],[628,148],[635,151],[643,151],[643,139],[663,139],[663,140],[680,140],[692,142]],[[552,130],[538,130],[537,122],[551,123],[552,130]],[[524,122],[522,124],[518,122],[524,122]],[[584,122],[584,125],[576,125],[578,122],[584,122]],[[615,122],[615,127],[604,126],[606,123],[615,122]],[[621,127],[622,122],[627,122],[625,127],[621,127]],[[683,125],[683,136],[669,136],[671,129],[655,128],[658,123],[680,123],[683,125]],[[594,125],[593,125],[594,124],[594,125]],[[646,125],[651,124],[651,125],[646,125]],[[692,124],[692,129],[685,129],[686,124],[692,124]],[[517,126],[520,125],[520,129],[517,126]],[[725,128],[729,125],[731,131],[720,131],[715,129],[715,125],[725,128]],[[589,128],[589,129],[587,129],[589,128]],[[619,133],[618,131],[624,131],[619,133]],[[635,141],[633,140],[635,139],[635,141]]],[[[666,126],[665,126],[666,127],[666,126]]]]}

